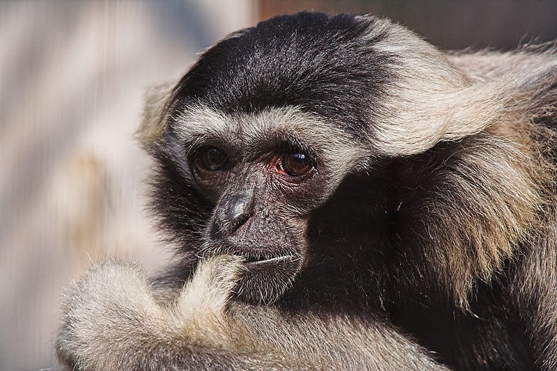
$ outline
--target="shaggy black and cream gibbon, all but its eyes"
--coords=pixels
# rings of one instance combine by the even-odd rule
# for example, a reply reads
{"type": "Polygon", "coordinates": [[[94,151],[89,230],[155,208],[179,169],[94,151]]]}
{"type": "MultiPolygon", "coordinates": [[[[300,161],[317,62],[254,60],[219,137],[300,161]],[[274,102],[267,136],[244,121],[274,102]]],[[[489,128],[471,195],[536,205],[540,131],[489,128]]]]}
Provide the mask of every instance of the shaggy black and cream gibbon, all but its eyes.
{"type": "Polygon", "coordinates": [[[139,131],[175,265],[91,268],[61,363],[556,369],[556,53],[446,53],[319,13],[229,35],[139,131]],[[226,166],[200,170],[207,148],[226,166]],[[308,173],[276,171],[292,152],[308,173]]]}

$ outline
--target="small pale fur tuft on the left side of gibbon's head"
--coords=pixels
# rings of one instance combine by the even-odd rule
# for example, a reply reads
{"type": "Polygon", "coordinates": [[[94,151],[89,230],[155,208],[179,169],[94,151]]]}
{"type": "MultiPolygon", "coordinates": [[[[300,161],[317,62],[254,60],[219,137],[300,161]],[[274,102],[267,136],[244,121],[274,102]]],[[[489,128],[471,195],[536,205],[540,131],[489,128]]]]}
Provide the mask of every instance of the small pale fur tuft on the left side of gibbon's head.
{"type": "Polygon", "coordinates": [[[136,132],[139,143],[147,150],[159,141],[166,129],[168,101],[172,95],[175,81],[149,88],[145,98],[143,121],[136,132]]]}

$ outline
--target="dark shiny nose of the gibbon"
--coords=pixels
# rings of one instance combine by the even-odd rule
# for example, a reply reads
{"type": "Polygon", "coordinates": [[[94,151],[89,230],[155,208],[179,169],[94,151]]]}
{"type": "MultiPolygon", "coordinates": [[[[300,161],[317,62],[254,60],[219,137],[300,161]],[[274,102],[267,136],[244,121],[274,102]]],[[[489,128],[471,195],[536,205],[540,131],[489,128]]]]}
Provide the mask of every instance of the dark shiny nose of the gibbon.
{"type": "Polygon", "coordinates": [[[221,239],[233,235],[253,214],[252,198],[246,194],[221,199],[214,214],[210,237],[221,239]]]}

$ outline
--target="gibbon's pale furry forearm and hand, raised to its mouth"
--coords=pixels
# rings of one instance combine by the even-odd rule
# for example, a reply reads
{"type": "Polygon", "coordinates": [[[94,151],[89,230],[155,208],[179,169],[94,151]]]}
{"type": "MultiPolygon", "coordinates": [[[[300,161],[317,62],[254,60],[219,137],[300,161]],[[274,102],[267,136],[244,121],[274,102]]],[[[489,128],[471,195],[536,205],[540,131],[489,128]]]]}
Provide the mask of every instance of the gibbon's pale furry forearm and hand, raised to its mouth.
{"type": "Polygon", "coordinates": [[[68,370],[446,370],[379,319],[231,302],[241,269],[233,256],[205,260],[160,304],[134,265],[96,265],[66,294],[58,357],[68,370]]]}

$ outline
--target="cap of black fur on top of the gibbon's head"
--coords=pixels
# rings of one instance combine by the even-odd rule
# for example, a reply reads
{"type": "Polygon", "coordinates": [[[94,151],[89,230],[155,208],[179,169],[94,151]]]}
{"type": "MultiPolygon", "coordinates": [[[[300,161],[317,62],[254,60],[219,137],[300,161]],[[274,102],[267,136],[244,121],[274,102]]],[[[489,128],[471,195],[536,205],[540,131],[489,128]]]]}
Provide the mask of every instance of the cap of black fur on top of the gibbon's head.
{"type": "Polygon", "coordinates": [[[299,106],[352,132],[393,72],[394,55],[373,48],[375,19],[322,13],[283,15],[233,33],[205,52],[176,86],[174,111],[202,103],[225,113],[299,106]]]}

